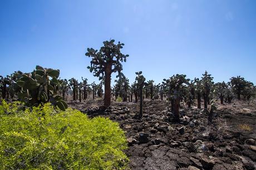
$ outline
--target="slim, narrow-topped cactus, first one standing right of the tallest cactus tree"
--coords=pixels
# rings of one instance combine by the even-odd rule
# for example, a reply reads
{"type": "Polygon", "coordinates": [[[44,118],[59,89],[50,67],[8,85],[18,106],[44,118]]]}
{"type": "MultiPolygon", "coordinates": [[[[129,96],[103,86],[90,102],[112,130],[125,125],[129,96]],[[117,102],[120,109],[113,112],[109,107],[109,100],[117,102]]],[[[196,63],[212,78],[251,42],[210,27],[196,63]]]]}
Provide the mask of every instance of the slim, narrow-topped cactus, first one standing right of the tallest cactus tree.
{"type": "Polygon", "coordinates": [[[139,112],[139,116],[138,118],[141,118],[143,115],[143,87],[145,86],[145,81],[146,78],[144,76],[142,76],[142,72],[136,72],[135,73],[137,75],[136,77],[136,82],[138,84],[139,87],[139,95],[140,95],[140,112],[139,112]]]}

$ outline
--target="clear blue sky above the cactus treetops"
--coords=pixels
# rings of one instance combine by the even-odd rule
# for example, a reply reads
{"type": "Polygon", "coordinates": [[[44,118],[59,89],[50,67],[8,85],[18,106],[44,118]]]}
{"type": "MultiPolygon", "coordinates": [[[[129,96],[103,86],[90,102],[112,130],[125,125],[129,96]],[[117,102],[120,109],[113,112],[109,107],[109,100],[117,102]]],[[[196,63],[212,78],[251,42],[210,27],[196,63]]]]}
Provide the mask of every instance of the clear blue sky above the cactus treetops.
{"type": "Polygon", "coordinates": [[[159,83],[207,70],[215,82],[240,75],[256,83],[254,0],[0,1],[0,75],[38,64],[97,82],[85,52],[110,38],[125,43],[130,82],[136,71],[159,83]]]}

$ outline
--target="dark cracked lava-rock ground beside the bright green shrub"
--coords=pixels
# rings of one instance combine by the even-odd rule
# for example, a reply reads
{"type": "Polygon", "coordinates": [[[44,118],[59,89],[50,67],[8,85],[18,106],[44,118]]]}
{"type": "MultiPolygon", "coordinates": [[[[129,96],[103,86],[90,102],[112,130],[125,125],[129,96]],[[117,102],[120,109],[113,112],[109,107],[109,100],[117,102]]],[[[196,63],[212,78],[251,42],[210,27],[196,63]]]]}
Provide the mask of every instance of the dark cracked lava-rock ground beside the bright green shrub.
{"type": "Polygon", "coordinates": [[[170,121],[169,104],[146,101],[142,119],[134,119],[139,105],[102,101],[69,102],[90,117],[119,122],[126,132],[131,169],[255,169],[256,104],[235,101],[218,106],[212,126],[195,106],[181,104],[181,122],[170,121]]]}

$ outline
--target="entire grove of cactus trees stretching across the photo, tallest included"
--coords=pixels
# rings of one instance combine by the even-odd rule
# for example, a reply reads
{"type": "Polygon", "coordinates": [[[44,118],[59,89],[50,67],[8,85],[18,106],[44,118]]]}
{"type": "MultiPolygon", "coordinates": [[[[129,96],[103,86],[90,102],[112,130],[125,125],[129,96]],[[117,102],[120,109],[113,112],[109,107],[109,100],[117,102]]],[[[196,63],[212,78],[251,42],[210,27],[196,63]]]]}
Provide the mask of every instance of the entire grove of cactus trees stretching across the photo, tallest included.
{"type": "Polygon", "coordinates": [[[129,55],[121,52],[124,43],[115,43],[114,39],[104,41],[100,49],[87,48],[85,56],[91,58],[88,69],[100,83],[89,84],[83,78],[79,82],[75,78],[60,79],[60,70],[36,66],[31,73],[17,71],[6,77],[0,76],[0,94],[6,101],[22,101],[27,107],[42,106],[51,103],[53,107],[62,111],[67,109],[67,101],[86,101],[87,99],[102,98],[104,107],[109,107],[111,101],[121,98],[122,102],[139,102],[140,109],[137,118],[143,115],[144,99],[159,99],[170,103],[174,113],[174,121],[179,121],[180,102],[184,101],[188,107],[196,103],[201,108],[201,101],[205,110],[210,113],[215,109],[215,103],[231,103],[233,99],[243,99],[252,102],[256,95],[256,86],[252,82],[237,76],[229,82],[213,82],[213,77],[204,72],[201,78],[189,79],[184,74],[170,75],[163,82],[155,84],[154,80],[146,81],[142,72],[135,73],[135,81],[129,81],[122,73],[122,62],[126,62],[129,55]],[[111,87],[112,73],[117,73],[115,85],[111,87]],[[133,83],[130,83],[133,82],[133,83]],[[103,89],[104,88],[104,89],[103,89]]]}

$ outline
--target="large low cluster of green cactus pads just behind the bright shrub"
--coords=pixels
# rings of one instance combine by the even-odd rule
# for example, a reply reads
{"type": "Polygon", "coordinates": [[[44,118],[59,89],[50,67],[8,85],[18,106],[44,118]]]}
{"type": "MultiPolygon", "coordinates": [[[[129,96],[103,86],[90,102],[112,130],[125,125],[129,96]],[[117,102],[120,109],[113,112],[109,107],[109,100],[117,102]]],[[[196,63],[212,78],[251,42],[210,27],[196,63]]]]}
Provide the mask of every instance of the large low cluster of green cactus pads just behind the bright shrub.
{"type": "Polygon", "coordinates": [[[57,79],[60,70],[36,66],[31,73],[19,74],[17,80],[18,98],[27,103],[29,107],[38,106],[51,102],[62,111],[65,111],[67,104],[62,96],[57,94],[60,88],[60,81],[57,79]]]}

